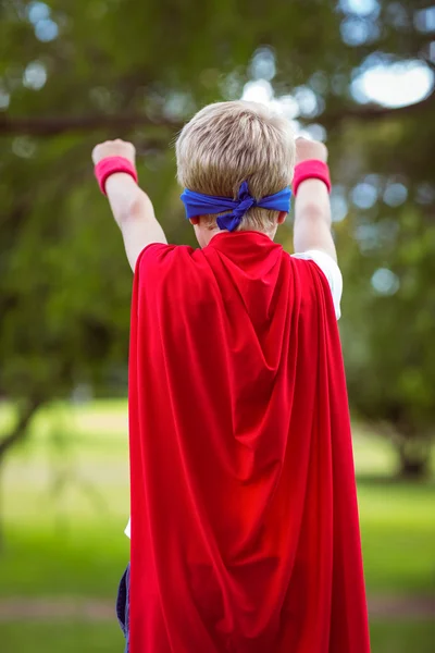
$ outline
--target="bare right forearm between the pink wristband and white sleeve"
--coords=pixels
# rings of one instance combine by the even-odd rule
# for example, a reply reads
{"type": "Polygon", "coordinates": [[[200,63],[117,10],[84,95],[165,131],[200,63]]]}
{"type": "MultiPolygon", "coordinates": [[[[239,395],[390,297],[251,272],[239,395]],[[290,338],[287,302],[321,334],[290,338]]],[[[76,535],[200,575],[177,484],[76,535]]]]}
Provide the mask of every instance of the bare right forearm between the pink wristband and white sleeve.
{"type": "Polygon", "coordinates": [[[331,201],[326,185],[315,178],[302,182],[295,201],[295,251],[320,249],[337,260],[331,223],[331,201]]]}

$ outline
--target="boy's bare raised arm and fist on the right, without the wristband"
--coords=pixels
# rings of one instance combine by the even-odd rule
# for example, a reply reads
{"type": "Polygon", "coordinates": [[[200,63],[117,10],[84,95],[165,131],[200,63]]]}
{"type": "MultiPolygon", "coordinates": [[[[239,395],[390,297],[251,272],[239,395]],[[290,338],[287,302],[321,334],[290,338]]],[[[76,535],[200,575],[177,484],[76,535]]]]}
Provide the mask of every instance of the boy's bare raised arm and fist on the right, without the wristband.
{"type": "MultiPolygon", "coordinates": [[[[296,163],[310,159],[326,162],[326,147],[323,143],[298,138],[296,163]]],[[[299,185],[295,201],[294,246],[296,252],[319,249],[337,260],[331,233],[330,195],[324,182],[306,180],[299,185]]]]}

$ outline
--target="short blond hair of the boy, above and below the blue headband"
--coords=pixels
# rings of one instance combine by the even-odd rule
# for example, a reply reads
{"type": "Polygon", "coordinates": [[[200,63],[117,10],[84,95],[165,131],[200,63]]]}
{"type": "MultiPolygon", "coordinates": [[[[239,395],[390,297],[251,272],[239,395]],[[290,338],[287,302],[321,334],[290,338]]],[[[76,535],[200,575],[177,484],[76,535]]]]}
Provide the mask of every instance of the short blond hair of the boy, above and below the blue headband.
{"type": "MultiPolygon", "coordinates": [[[[260,199],[291,183],[295,137],[289,122],[265,104],[216,102],[199,111],[176,141],[177,177],[182,186],[236,198],[240,184],[260,199]]],[[[278,211],[251,208],[238,230],[270,231],[278,211]]],[[[201,217],[215,227],[217,214],[201,217]]]]}

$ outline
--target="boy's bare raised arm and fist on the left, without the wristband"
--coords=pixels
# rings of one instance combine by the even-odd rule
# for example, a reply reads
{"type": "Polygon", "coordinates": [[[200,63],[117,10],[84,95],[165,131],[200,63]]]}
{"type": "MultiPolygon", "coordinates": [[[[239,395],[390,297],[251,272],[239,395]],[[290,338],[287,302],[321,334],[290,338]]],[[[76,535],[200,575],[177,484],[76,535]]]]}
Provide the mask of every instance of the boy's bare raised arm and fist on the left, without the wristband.
{"type": "MultiPolygon", "coordinates": [[[[107,157],[123,157],[135,163],[135,147],[124,140],[107,140],[94,148],[92,161],[107,157]]],[[[132,270],[147,245],[166,243],[166,237],[154,215],[151,200],[135,180],[124,172],[112,174],[105,182],[105,193],[113,217],[121,229],[125,251],[132,270]]]]}

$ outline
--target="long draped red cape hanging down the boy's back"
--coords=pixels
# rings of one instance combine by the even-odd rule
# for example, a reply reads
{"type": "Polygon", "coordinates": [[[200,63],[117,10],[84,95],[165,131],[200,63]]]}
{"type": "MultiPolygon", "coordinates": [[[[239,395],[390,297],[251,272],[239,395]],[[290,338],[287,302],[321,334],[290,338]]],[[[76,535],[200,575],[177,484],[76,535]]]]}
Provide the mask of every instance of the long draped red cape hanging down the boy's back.
{"type": "Polygon", "coordinates": [[[331,291],[268,236],[154,244],[129,360],[130,653],[366,653],[331,291]]]}

